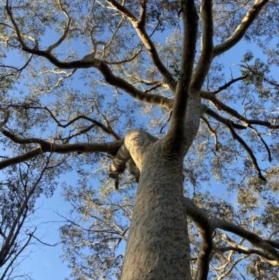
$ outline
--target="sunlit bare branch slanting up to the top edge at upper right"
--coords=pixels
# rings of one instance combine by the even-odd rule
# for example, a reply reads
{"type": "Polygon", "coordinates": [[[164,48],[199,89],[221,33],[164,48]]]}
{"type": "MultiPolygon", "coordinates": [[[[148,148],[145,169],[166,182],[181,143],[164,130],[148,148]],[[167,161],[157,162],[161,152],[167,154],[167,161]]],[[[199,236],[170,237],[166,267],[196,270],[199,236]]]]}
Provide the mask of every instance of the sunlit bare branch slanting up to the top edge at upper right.
{"type": "Polygon", "coordinates": [[[259,12],[262,10],[262,8],[264,8],[264,5],[268,1],[269,0],[255,1],[255,4],[248,10],[241,24],[239,24],[239,26],[234,31],[234,34],[227,38],[225,42],[220,43],[219,45],[216,45],[216,47],[214,47],[214,57],[223,54],[223,52],[226,52],[230,48],[234,47],[234,45],[239,43],[239,41],[246,34],[246,31],[248,30],[250,25],[254,22],[254,20],[257,18],[257,15],[259,15],[259,12]]]}

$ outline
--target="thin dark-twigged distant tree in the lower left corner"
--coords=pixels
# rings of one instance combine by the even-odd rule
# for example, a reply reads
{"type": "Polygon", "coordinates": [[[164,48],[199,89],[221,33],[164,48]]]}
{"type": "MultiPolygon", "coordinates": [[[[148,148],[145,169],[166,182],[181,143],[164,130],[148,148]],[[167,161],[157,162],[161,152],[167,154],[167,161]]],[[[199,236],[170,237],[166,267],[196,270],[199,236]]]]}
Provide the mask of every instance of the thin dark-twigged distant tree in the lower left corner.
{"type": "MultiPolygon", "coordinates": [[[[50,196],[55,189],[50,156],[45,166],[36,167],[38,159],[6,168],[0,181],[0,279],[31,279],[22,261],[32,253],[31,246],[48,245],[36,231],[36,200],[50,196]],[[52,177],[52,178],[51,178],[52,177]],[[51,181],[50,181],[51,179],[51,181]],[[22,273],[24,272],[24,273],[22,273]]],[[[53,163],[53,162],[52,162],[53,163]]],[[[59,164],[55,165],[56,168],[59,164]]],[[[52,245],[53,246],[53,245],[52,245]]]]}

